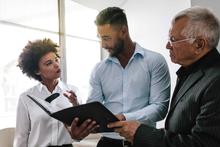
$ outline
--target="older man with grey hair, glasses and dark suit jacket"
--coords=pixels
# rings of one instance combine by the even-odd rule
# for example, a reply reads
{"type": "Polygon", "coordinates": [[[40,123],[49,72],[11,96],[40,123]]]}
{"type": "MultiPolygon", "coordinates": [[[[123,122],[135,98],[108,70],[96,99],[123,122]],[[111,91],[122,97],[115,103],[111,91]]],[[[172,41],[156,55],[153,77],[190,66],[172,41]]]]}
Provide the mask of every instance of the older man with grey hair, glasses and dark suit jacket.
{"type": "Polygon", "coordinates": [[[173,63],[181,65],[165,128],[137,121],[109,127],[134,147],[220,147],[219,21],[210,10],[192,7],[178,13],[169,31],[173,63]]]}

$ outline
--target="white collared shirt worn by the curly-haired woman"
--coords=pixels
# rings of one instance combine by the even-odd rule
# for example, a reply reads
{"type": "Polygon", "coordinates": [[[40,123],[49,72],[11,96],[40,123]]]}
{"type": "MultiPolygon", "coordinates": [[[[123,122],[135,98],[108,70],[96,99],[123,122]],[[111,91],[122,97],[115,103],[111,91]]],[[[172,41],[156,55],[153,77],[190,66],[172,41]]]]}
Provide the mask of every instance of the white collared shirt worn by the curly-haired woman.
{"type": "MultiPolygon", "coordinates": [[[[69,100],[63,96],[66,90],[72,90],[76,95],[78,94],[76,87],[59,81],[52,93],[59,93],[60,96],[54,99],[51,105],[61,108],[72,106],[69,100]]],[[[39,83],[20,95],[14,147],[46,147],[73,142],[62,122],[50,117],[27,97],[27,95],[30,95],[37,99],[45,99],[52,93],[48,91],[46,86],[39,83]]]]}

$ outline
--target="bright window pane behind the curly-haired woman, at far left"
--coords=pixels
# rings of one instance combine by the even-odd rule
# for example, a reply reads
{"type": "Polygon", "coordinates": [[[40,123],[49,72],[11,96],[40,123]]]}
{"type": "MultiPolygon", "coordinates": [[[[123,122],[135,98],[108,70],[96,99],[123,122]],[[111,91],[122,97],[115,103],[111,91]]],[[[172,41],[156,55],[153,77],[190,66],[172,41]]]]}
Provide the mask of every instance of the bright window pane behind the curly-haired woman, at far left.
{"type": "Polygon", "coordinates": [[[28,40],[58,42],[57,1],[0,0],[0,128],[15,126],[19,95],[36,84],[23,75],[17,58],[28,40]]]}

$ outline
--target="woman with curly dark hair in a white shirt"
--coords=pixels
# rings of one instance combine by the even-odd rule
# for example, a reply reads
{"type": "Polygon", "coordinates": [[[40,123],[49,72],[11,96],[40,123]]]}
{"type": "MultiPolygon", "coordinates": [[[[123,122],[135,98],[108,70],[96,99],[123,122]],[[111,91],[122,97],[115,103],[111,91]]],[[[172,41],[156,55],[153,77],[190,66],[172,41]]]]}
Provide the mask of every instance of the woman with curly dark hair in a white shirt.
{"type": "Polygon", "coordinates": [[[22,73],[39,83],[20,95],[15,147],[72,146],[73,140],[63,123],[50,117],[27,96],[46,100],[48,96],[59,93],[50,105],[64,108],[77,103],[76,87],[59,80],[58,49],[58,45],[50,39],[29,41],[18,58],[22,73]]]}

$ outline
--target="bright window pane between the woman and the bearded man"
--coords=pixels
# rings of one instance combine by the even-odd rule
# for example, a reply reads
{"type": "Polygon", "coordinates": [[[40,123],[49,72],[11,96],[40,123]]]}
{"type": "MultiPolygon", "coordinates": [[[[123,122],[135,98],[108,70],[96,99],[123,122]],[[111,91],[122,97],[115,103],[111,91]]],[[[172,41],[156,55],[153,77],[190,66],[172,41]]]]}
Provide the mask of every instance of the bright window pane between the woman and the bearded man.
{"type": "Polygon", "coordinates": [[[67,82],[79,88],[85,103],[90,73],[101,59],[94,23],[98,11],[72,0],[67,0],[65,5],[67,82]]]}

